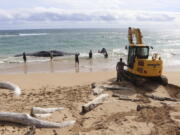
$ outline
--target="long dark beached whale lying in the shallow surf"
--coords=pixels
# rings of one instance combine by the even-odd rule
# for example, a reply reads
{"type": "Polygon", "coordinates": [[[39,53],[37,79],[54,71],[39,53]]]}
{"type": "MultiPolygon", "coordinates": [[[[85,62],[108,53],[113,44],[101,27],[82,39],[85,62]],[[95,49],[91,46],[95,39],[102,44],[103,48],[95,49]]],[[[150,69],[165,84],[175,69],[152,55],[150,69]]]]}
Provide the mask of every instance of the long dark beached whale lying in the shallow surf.
{"type": "MultiPolygon", "coordinates": [[[[35,57],[58,57],[58,56],[65,56],[65,55],[75,55],[75,53],[67,53],[63,51],[56,51],[56,50],[51,50],[51,51],[38,51],[34,53],[26,53],[26,56],[35,56],[35,57]]],[[[23,54],[17,54],[15,57],[21,57],[23,54]]]]}

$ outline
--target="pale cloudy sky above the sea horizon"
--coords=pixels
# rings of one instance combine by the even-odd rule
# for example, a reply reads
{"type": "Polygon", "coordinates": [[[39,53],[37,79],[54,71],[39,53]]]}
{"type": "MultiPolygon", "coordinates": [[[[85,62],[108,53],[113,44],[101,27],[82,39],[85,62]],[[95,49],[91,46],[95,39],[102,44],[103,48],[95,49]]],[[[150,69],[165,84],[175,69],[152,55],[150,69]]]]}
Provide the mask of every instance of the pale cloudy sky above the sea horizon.
{"type": "Polygon", "coordinates": [[[0,29],[180,28],[180,0],[0,0],[0,29]]]}

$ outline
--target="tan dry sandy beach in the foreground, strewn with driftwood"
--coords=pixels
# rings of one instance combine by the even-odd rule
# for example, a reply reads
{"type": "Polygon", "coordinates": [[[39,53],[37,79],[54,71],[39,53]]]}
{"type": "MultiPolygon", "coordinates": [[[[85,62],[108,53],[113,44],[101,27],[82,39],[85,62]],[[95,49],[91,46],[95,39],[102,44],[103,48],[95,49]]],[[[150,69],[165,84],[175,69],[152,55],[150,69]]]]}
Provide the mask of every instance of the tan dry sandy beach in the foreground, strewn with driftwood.
{"type": "MultiPolygon", "coordinates": [[[[50,117],[40,118],[52,122],[75,120],[65,128],[36,128],[37,135],[177,135],[180,133],[180,72],[167,72],[167,86],[156,83],[136,87],[130,82],[113,83],[115,71],[79,73],[37,73],[1,75],[0,81],[17,84],[22,94],[17,97],[11,91],[1,89],[0,111],[30,114],[32,107],[64,107],[50,117]],[[92,94],[91,83],[120,85],[130,90],[104,91],[109,97],[92,111],[81,115],[82,105],[97,97],[92,94]],[[147,98],[144,93],[159,97],[175,98],[177,101],[158,101],[147,98]],[[114,94],[138,98],[141,101],[119,100],[114,94]],[[137,105],[150,106],[136,111],[137,105]]],[[[28,126],[0,123],[0,134],[24,135],[28,126]]]]}

